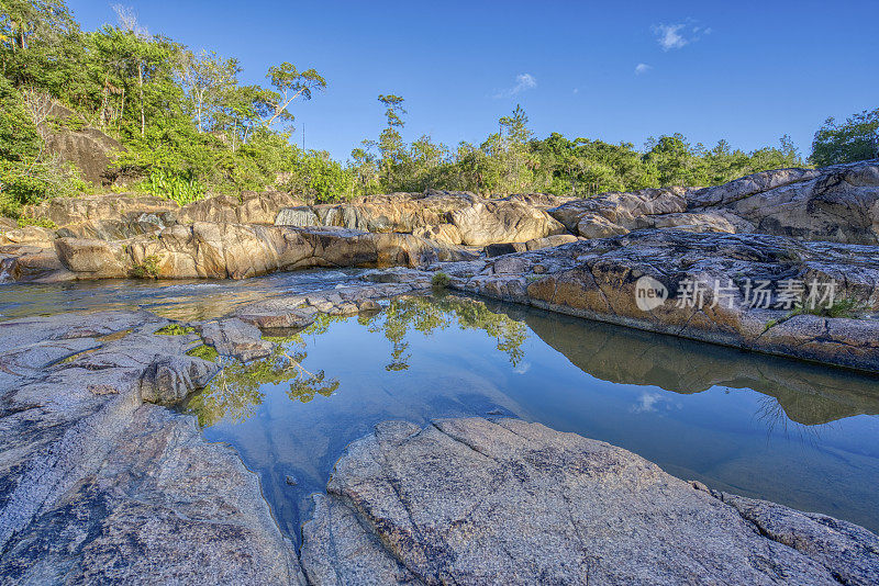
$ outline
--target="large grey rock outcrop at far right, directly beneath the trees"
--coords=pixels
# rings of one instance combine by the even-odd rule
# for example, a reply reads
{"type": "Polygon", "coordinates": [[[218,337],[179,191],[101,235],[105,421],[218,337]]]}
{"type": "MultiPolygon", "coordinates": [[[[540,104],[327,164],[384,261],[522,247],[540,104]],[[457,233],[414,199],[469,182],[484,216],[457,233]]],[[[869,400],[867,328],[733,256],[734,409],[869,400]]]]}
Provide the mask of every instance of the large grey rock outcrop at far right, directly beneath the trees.
{"type": "Polygon", "coordinates": [[[874,245],[879,243],[879,161],[763,171],[703,189],[605,193],[549,214],[588,238],[674,227],[874,245]]]}

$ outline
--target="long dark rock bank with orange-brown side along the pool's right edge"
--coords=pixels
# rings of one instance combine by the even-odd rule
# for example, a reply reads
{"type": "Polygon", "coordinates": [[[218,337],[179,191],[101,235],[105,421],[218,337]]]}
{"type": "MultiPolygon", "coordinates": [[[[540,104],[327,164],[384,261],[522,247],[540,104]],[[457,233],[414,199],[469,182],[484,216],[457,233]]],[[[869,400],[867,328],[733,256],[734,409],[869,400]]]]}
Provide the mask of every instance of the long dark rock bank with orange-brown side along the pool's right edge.
{"type": "MultiPolygon", "coordinates": [[[[450,286],[492,298],[685,338],[879,372],[879,319],[791,316],[752,307],[747,283],[836,282],[835,297],[879,307],[879,262],[870,247],[764,235],[643,230],[485,262],[447,263],[450,286]],[[646,312],[636,283],[648,275],[670,298],[646,312]],[[701,290],[678,307],[685,283],[701,290]],[[715,284],[726,288],[714,303],[715,284]],[[732,285],[732,286],[730,286],[732,285]]],[[[772,303],[779,300],[774,297],[772,303]]]]}

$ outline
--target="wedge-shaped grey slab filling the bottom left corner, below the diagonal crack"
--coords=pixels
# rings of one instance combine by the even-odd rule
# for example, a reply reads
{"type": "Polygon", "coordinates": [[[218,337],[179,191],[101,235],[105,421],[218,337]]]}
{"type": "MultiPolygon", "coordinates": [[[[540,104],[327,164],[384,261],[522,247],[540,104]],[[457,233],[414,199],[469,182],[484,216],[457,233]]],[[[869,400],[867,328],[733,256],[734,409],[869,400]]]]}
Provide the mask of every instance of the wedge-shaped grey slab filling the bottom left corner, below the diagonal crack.
{"type": "Polygon", "coordinates": [[[113,453],[0,559],[2,584],[298,584],[259,483],[192,417],[142,406],[113,453]]]}

